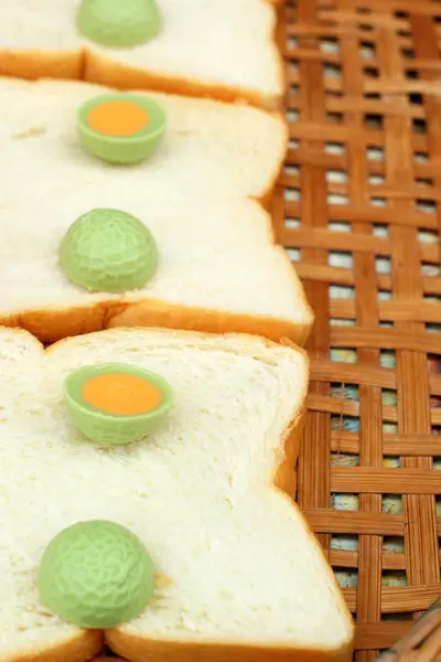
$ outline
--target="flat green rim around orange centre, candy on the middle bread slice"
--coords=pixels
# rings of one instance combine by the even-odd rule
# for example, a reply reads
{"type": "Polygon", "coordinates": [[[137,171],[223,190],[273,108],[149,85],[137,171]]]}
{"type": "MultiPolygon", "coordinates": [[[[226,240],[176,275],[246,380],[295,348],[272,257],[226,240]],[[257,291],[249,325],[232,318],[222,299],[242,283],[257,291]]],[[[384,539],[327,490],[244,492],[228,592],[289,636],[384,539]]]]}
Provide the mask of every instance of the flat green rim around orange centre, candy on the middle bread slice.
{"type": "Polygon", "coordinates": [[[131,93],[112,93],[101,94],[84,102],[77,110],[77,126],[80,132],[106,142],[114,143],[115,146],[136,145],[143,140],[154,140],[159,138],[165,129],[165,113],[157,102],[148,96],[141,96],[131,93]],[[87,122],[87,116],[97,106],[109,102],[128,102],[140,106],[149,116],[149,122],[143,129],[140,129],[136,134],[130,136],[106,136],[100,134],[90,127],[87,122]],[[152,127],[153,125],[153,127],[152,127]]]}

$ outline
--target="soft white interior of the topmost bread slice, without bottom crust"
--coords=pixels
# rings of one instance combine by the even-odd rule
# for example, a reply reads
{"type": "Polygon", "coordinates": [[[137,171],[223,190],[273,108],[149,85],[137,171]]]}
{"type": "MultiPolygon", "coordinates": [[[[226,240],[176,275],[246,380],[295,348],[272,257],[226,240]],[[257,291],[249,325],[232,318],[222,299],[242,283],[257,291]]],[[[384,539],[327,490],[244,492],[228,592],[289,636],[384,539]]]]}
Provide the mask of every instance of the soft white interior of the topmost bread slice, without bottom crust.
{"type": "MultiPolygon", "coordinates": [[[[2,0],[0,50],[63,54],[87,49],[107,68],[126,65],[164,79],[282,94],[280,56],[273,42],[275,12],[265,0],[158,0],[163,28],[130,49],[99,46],[76,30],[79,0],[2,0]]],[[[31,57],[31,55],[30,55],[31,57]]],[[[11,66],[13,62],[11,63],[11,66]]],[[[3,64],[7,66],[7,63],[3,64]]],[[[37,66],[30,63],[29,70],[37,66]]],[[[6,72],[8,73],[8,72],[6,72]]]]}

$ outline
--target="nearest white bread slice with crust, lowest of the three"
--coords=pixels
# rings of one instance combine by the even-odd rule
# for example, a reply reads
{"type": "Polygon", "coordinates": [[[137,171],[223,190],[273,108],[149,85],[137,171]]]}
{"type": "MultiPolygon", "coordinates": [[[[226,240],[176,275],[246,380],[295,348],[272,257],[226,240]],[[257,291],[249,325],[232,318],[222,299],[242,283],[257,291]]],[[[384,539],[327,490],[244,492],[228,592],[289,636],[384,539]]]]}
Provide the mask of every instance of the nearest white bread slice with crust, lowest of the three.
{"type": "Polygon", "coordinates": [[[106,632],[133,662],[348,662],[353,624],[292,493],[308,359],[256,337],[112,329],[44,351],[0,330],[0,660],[82,662],[97,632],[39,601],[51,538],[110,519],[141,537],[153,600],[106,632]],[[150,438],[100,449],[68,417],[63,381],[89,363],[165,377],[174,406],[150,438]]]}

